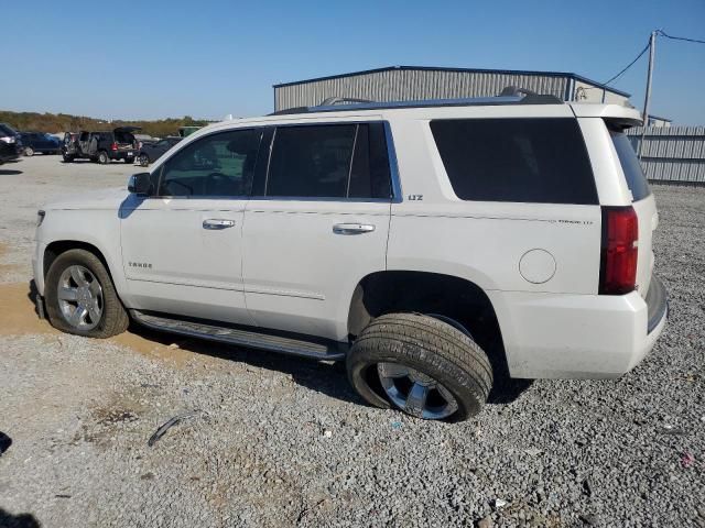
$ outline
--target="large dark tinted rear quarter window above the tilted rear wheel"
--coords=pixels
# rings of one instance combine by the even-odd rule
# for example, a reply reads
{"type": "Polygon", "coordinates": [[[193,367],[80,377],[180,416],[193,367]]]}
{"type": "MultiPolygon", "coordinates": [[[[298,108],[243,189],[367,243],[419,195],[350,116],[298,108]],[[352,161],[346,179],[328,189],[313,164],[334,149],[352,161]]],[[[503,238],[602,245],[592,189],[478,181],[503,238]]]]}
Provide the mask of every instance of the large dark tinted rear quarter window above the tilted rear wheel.
{"type": "Polygon", "coordinates": [[[597,204],[575,119],[442,120],[431,130],[463,200],[597,204]]]}

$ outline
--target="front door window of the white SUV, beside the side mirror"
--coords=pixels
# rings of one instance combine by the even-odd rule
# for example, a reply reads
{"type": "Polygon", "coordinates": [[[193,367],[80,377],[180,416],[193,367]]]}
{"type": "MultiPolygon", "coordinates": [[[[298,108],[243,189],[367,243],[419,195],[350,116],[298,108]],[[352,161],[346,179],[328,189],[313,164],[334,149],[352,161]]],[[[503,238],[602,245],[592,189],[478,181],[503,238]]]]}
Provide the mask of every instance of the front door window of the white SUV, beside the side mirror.
{"type": "Polygon", "coordinates": [[[160,196],[249,196],[261,131],[236,130],[194,141],[162,169],[160,196]]]}

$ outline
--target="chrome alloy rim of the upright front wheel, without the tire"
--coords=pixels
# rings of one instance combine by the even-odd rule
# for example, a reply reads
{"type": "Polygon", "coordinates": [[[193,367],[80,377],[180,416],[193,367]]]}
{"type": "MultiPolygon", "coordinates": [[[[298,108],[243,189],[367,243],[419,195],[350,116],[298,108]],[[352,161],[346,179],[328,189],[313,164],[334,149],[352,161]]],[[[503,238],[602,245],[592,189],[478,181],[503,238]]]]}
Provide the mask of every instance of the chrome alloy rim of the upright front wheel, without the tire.
{"type": "Polygon", "coordinates": [[[58,279],[56,298],[64,320],[78,330],[93,330],[104,310],[102,288],[86,267],[68,266],[58,279]]]}

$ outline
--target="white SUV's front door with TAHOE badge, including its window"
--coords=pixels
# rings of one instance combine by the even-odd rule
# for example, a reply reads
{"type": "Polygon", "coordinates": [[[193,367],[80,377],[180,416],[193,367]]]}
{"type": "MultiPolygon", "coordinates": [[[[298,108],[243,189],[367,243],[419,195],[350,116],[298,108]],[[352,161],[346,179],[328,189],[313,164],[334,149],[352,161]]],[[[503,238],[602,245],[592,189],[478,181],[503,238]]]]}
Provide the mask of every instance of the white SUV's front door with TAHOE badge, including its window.
{"type": "Polygon", "coordinates": [[[248,324],[242,220],[260,131],[209,134],[154,168],[154,196],[121,210],[135,308],[248,324]]]}

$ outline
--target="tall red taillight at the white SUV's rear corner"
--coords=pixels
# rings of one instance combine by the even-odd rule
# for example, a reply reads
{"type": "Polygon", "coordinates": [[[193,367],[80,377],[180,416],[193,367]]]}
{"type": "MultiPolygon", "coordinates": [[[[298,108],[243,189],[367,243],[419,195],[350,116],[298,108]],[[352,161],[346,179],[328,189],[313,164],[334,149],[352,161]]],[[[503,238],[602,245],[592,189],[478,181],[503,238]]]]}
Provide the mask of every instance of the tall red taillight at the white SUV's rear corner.
{"type": "Polygon", "coordinates": [[[631,206],[603,207],[599,293],[623,295],[637,285],[639,219],[631,206]]]}

